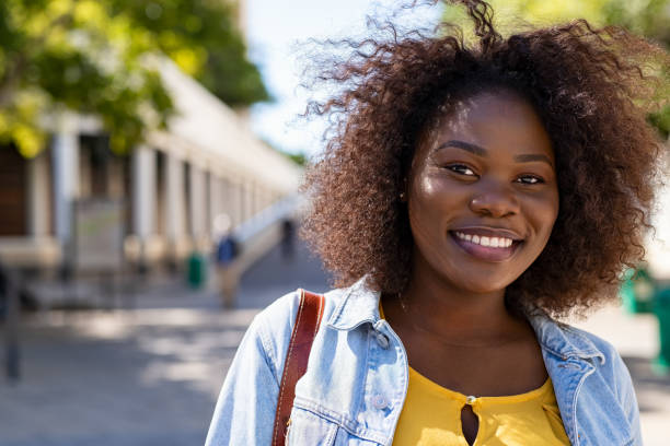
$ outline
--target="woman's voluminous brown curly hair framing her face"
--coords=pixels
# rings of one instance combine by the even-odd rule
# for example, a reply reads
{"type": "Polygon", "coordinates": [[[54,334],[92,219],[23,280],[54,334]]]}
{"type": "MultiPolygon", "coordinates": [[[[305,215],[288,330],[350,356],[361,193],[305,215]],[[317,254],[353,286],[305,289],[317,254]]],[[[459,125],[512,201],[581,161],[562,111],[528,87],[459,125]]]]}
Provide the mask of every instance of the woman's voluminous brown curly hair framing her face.
{"type": "Polygon", "coordinates": [[[648,73],[667,69],[668,54],[585,20],[504,38],[487,3],[461,3],[476,44],[451,24],[400,35],[390,23],[378,24],[390,38],[339,43],[351,55],[320,79],[340,93],[311,104],[333,128],[308,167],[302,190],[311,206],[301,234],[334,285],[368,274],[374,290],[402,292],[413,237],[398,195],[420,134],[458,97],[511,89],[534,105],[552,139],[559,213],[543,253],[508,286],[506,304],[554,317],[584,314],[614,295],[623,269],[644,256],[662,146],[645,120],[655,91],[648,73]]]}

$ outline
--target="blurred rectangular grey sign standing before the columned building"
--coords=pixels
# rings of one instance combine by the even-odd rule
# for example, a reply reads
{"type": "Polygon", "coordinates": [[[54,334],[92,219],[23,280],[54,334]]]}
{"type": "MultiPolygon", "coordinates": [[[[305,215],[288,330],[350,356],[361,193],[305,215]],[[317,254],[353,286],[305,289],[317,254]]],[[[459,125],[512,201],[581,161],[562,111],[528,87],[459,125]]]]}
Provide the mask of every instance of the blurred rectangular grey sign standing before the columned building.
{"type": "Polygon", "coordinates": [[[124,204],[85,199],[74,203],[73,261],[77,271],[118,271],[124,262],[124,204]]]}

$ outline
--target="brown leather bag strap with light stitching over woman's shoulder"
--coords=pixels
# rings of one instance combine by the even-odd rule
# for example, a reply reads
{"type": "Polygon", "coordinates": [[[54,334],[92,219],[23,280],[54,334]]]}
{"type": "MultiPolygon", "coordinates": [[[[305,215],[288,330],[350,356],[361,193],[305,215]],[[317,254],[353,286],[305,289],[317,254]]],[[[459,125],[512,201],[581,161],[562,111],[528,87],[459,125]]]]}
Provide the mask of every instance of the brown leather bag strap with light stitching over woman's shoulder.
{"type": "Polygon", "coordinates": [[[320,294],[299,290],[300,306],[291,333],[291,342],[286,352],[279,397],[277,398],[277,412],[275,413],[275,431],[273,446],[284,446],[286,432],[291,418],[293,399],[296,398],[296,383],[307,372],[312,342],[319,331],[321,316],[323,315],[324,297],[320,294]]]}

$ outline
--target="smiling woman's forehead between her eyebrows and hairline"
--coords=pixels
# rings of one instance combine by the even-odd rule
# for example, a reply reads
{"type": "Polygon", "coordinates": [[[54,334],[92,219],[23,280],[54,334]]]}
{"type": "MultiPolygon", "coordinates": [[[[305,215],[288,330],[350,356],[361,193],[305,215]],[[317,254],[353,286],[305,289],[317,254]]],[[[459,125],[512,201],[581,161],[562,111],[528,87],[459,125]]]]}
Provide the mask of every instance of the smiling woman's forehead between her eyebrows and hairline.
{"type": "Polygon", "coordinates": [[[510,91],[483,92],[451,104],[424,134],[418,153],[440,143],[464,140],[489,151],[542,153],[553,159],[550,136],[529,101],[510,91]]]}

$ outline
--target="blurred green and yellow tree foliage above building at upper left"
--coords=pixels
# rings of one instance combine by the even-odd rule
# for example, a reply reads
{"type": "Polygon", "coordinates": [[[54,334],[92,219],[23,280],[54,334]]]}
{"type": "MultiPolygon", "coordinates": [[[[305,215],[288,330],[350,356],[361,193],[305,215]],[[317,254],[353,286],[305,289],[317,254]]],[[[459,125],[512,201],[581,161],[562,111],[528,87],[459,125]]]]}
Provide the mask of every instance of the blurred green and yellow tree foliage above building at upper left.
{"type": "Polygon", "coordinates": [[[74,110],[128,151],[173,113],[160,55],[232,106],[268,99],[234,13],[223,0],[0,1],[0,143],[34,156],[44,120],[74,110]]]}

